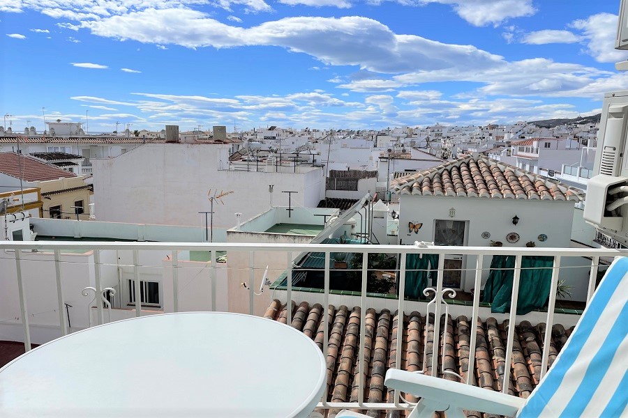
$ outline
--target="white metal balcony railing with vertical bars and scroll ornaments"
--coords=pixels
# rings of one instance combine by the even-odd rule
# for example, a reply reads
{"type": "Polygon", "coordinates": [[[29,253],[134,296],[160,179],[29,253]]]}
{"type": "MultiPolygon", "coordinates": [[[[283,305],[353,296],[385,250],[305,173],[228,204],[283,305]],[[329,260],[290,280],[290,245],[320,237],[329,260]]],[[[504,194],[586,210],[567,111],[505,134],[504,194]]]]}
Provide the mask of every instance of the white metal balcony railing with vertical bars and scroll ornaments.
{"type": "MultiPolygon", "coordinates": [[[[259,277],[262,274],[255,275],[255,253],[256,252],[264,252],[267,254],[269,252],[283,252],[285,254],[285,270],[287,271],[287,277],[292,277],[292,270],[294,270],[293,257],[297,256],[297,254],[304,254],[307,252],[317,252],[322,253],[324,256],[324,262],[322,263],[322,272],[323,272],[323,280],[322,280],[322,293],[317,292],[317,295],[322,297],[322,307],[329,307],[330,297],[332,295],[332,291],[330,288],[330,265],[331,265],[331,254],[344,252],[344,253],[357,253],[361,254],[361,270],[357,270],[361,272],[361,278],[359,279],[360,283],[360,292],[357,293],[357,297],[354,298],[354,301],[357,305],[359,305],[359,310],[357,310],[357,314],[359,315],[359,331],[357,332],[356,339],[359,338],[359,343],[357,345],[357,350],[353,352],[354,356],[354,390],[352,390],[352,394],[355,396],[351,396],[351,401],[334,401],[326,396],[321,400],[318,405],[319,408],[324,408],[327,410],[331,410],[331,413],[334,411],[340,410],[342,408],[351,408],[357,410],[401,410],[408,408],[411,403],[405,401],[405,399],[401,396],[399,391],[390,391],[388,392],[388,398],[385,398],[387,392],[384,392],[384,396],[380,397],[380,401],[371,402],[366,398],[368,391],[366,390],[367,380],[366,380],[366,372],[369,369],[368,358],[373,357],[373,350],[371,350],[370,346],[367,348],[366,339],[366,316],[368,315],[367,311],[370,306],[367,302],[367,296],[369,300],[373,297],[372,294],[367,295],[367,281],[369,278],[368,274],[368,254],[398,254],[398,259],[401,266],[398,269],[398,286],[396,288],[396,295],[394,300],[390,300],[390,296],[387,298],[389,300],[389,304],[396,304],[397,314],[390,315],[390,327],[387,327],[386,336],[391,336],[390,346],[388,348],[387,353],[390,353],[389,362],[387,365],[382,366],[382,373],[385,371],[384,369],[387,367],[399,367],[402,368],[404,362],[402,362],[402,353],[404,352],[404,336],[406,332],[410,332],[409,321],[404,319],[405,307],[406,304],[410,306],[412,303],[412,309],[416,309],[418,306],[418,302],[410,302],[406,297],[405,290],[405,278],[406,278],[406,258],[408,254],[437,254],[438,257],[438,268],[437,268],[437,277],[435,280],[435,284],[433,287],[426,288],[425,295],[432,295],[432,300],[424,303],[423,309],[426,314],[426,322],[428,322],[431,318],[431,314],[433,313],[433,334],[428,335],[426,329],[426,338],[424,339],[424,346],[431,345],[432,347],[432,356],[428,358],[424,356],[423,371],[427,371],[432,373],[433,375],[443,375],[449,376],[449,378],[456,378],[456,380],[460,379],[465,381],[468,384],[474,384],[474,376],[477,374],[476,368],[476,353],[474,349],[469,350],[468,354],[468,369],[464,370],[461,367],[461,373],[457,373],[451,368],[447,367],[447,359],[444,358],[443,355],[439,355],[439,348],[441,346],[440,341],[447,338],[446,330],[448,324],[448,315],[450,311],[450,304],[446,302],[446,299],[455,296],[455,291],[452,288],[447,288],[443,286],[444,281],[444,256],[446,254],[458,254],[463,256],[471,257],[467,263],[467,269],[469,269],[469,265],[472,265],[472,261],[475,260],[474,268],[470,268],[470,271],[474,271],[473,284],[474,289],[481,288],[481,280],[482,273],[486,271],[483,268],[484,258],[493,256],[493,255],[514,255],[514,274],[512,279],[512,293],[511,293],[511,303],[510,303],[510,312],[507,315],[509,324],[516,324],[518,321],[518,316],[516,315],[516,308],[518,302],[518,292],[519,292],[519,282],[521,279],[521,270],[522,270],[522,258],[523,256],[553,256],[553,265],[551,267],[551,289],[549,292],[548,306],[545,317],[545,327],[543,332],[541,332],[543,343],[542,343],[542,351],[541,351],[541,367],[540,367],[540,377],[542,378],[548,369],[548,362],[550,356],[550,348],[552,346],[551,343],[551,332],[552,327],[555,324],[554,316],[555,316],[555,303],[556,303],[556,291],[558,288],[558,272],[561,268],[561,259],[562,257],[587,257],[590,258],[590,273],[588,278],[588,286],[587,286],[587,298],[586,300],[590,300],[592,297],[593,291],[595,291],[596,279],[597,279],[597,268],[599,266],[600,257],[613,257],[613,256],[628,256],[628,249],[584,249],[584,248],[513,248],[513,247],[417,247],[417,246],[408,246],[408,245],[283,245],[283,244],[242,244],[242,243],[162,243],[162,242],[0,242],[0,249],[3,250],[4,254],[8,258],[13,257],[15,259],[15,267],[13,270],[16,272],[17,277],[17,290],[18,297],[20,299],[20,321],[22,323],[23,331],[24,331],[24,347],[26,350],[31,349],[31,334],[29,328],[29,311],[27,308],[27,295],[25,292],[24,286],[24,277],[22,277],[22,263],[26,262],[24,260],[24,251],[50,251],[52,249],[54,253],[54,270],[57,278],[57,302],[59,309],[59,327],[61,329],[61,334],[65,335],[70,330],[68,327],[68,320],[65,315],[63,315],[63,311],[65,309],[65,300],[63,297],[63,280],[61,276],[62,272],[62,262],[60,258],[61,250],[63,249],[82,249],[82,250],[90,250],[93,251],[93,265],[94,265],[94,286],[88,286],[83,289],[84,295],[89,295],[93,293],[94,299],[90,302],[89,306],[91,306],[94,302],[96,302],[97,309],[97,320],[98,324],[105,323],[104,309],[106,308],[109,315],[107,320],[111,320],[111,304],[109,300],[107,300],[107,293],[111,295],[114,292],[114,289],[108,286],[103,286],[103,268],[106,263],[103,263],[101,260],[101,252],[105,250],[115,250],[115,251],[130,251],[132,254],[133,262],[130,265],[127,265],[127,268],[132,270],[133,277],[133,286],[135,289],[135,300],[133,305],[135,307],[135,315],[142,315],[142,302],[141,297],[139,295],[142,294],[142,290],[140,288],[140,268],[144,267],[140,265],[140,251],[167,251],[169,253],[171,265],[166,265],[165,267],[160,266],[160,268],[164,269],[172,269],[172,311],[179,311],[180,307],[180,291],[184,285],[179,283],[179,273],[183,267],[181,266],[181,261],[179,260],[179,251],[205,251],[210,253],[209,257],[209,286],[211,288],[211,293],[209,296],[209,306],[211,310],[216,310],[216,253],[217,251],[234,251],[237,253],[248,254],[248,267],[241,265],[239,269],[241,272],[246,272],[248,275],[248,282],[246,283],[246,289],[248,289],[248,312],[250,314],[254,314],[255,310],[255,297],[260,293],[255,290],[259,288],[259,277]],[[181,288],[180,288],[181,286],[181,288]],[[359,299],[358,299],[359,297],[359,299]],[[359,300],[359,302],[357,302],[359,300]],[[443,324],[441,325],[441,320],[444,318],[443,324]],[[407,325],[408,324],[408,325],[407,325]],[[406,329],[407,328],[407,329],[406,329]],[[356,353],[357,352],[357,353],[356,353]],[[442,368],[439,370],[439,360],[442,364],[442,368]],[[440,372],[440,373],[439,373],[440,372]],[[388,402],[386,402],[388,401],[388,402]]],[[[38,253],[43,254],[43,253],[38,253]]],[[[6,258],[7,258],[6,257],[6,258]]],[[[31,256],[29,252],[28,261],[32,261],[33,256],[31,256]]],[[[49,260],[50,261],[50,260],[49,260]]],[[[228,256],[227,256],[228,261],[228,256]]],[[[266,258],[264,259],[264,266],[267,265],[266,258]]],[[[114,263],[114,265],[116,265],[114,263]]],[[[228,264],[227,264],[228,265],[228,264]]],[[[111,264],[110,264],[111,266],[111,264]]],[[[151,266],[154,268],[155,266],[151,266]]],[[[568,268],[566,266],[565,268],[568,268]]],[[[227,267],[228,268],[228,267],[227,267]]],[[[234,268],[235,270],[235,268],[234,268]]],[[[262,269],[263,270],[263,269],[262,269]]],[[[332,269],[333,270],[333,269],[332,269]]],[[[28,277],[29,282],[36,280],[36,278],[28,277]]],[[[29,288],[31,288],[29,286],[29,288]]],[[[302,289],[301,289],[302,291],[302,289]]],[[[120,293],[120,292],[119,292],[120,293]]],[[[268,293],[265,293],[266,295],[268,293]]],[[[314,294],[314,293],[313,293],[314,294]]],[[[281,302],[285,303],[285,319],[289,323],[293,318],[293,308],[292,308],[292,297],[297,295],[295,289],[292,288],[292,281],[287,280],[285,286],[285,293],[281,293],[281,295],[285,295],[285,300],[281,302]]],[[[336,294],[334,294],[336,297],[336,294]]],[[[473,293],[473,301],[472,301],[472,314],[468,320],[469,328],[469,346],[470,348],[476,347],[476,341],[478,341],[478,330],[477,326],[475,326],[480,318],[479,309],[480,309],[480,299],[479,299],[479,291],[474,291],[473,293]]],[[[353,303],[353,302],[352,302],[353,303]]],[[[56,309],[55,309],[56,310],[56,309]]],[[[324,354],[328,357],[328,359],[334,359],[334,364],[336,362],[336,357],[331,356],[330,344],[334,342],[336,346],[334,346],[334,350],[338,351],[338,344],[340,341],[336,341],[337,336],[334,335],[333,340],[330,341],[330,333],[333,334],[334,330],[331,328],[331,321],[333,320],[332,314],[325,314],[325,309],[322,309],[322,314],[320,315],[322,318],[320,319],[320,327],[319,330],[322,330],[320,346],[324,351],[324,354]]],[[[372,309],[370,310],[372,311],[372,309]]],[[[543,315],[542,313],[538,313],[543,315]]],[[[91,317],[91,316],[90,316],[91,317]]],[[[519,316],[521,319],[521,316],[519,316]]],[[[89,323],[89,325],[94,325],[89,323]]],[[[357,328],[357,327],[355,327],[357,328]]],[[[515,326],[507,326],[505,332],[507,333],[506,337],[506,347],[503,349],[504,352],[504,364],[512,364],[513,361],[513,352],[514,352],[514,334],[515,334],[515,326]]],[[[373,330],[371,329],[371,336],[368,336],[369,339],[373,340],[373,330]]],[[[373,343],[373,347],[374,347],[373,343]]],[[[541,344],[539,344],[541,346],[541,344]]],[[[425,351],[424,351],[425,353],[425,351]]],[[[403,359],[405,361],[405,359],[403,359]]],[[[382,375],[383,376],[383,375],[382,375]]],[[[508,393],[509,388],[512,385],[511,378],[511,367],[504,367],[503,376],[500,371],[499,376],[500,382],[498,383],[499,389],[508,393]]],[[[382,382],[383,384],[383,382],[382,382]]],[[[383,389],[383,385],[382,385],[383,389]]]]}

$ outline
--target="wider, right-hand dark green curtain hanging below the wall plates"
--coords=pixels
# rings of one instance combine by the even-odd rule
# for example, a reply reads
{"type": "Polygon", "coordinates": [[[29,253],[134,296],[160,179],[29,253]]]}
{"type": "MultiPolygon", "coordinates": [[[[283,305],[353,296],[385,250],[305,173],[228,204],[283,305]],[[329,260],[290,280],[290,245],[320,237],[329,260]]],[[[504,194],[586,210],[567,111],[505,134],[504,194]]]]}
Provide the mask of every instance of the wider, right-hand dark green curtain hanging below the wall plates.
{"type": "MultiPolygon", "coordinates": [[[[546,306],[551,288],[553,261],[551,256],[521,258],[517,315],[525,315],[546,306]]],[[[482,298],[484,302],[491,303],[491,312],[504,314],[510,311],[514,264],[515,256],[493,256],[482,298]]]]}

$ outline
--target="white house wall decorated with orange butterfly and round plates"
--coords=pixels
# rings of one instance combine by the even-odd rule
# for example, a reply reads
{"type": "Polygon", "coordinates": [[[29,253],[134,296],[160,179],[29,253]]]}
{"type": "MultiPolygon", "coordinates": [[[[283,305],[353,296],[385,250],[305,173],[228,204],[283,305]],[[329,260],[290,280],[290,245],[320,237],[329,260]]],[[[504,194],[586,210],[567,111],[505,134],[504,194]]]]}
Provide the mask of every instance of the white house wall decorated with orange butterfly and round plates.
{"type": "MultiPolygon", "coordinates": [[[[571,246],[571,225],[574,217],[573,201],[538,201],[516,199],[488,199],[450,196],[412,196],[401,195],[399,214],[399,239],[402,244],[413,244],[414,241],[434,240],[436,219],[458,220],[468,222],[466,227],[467,242],[470,247],[489,246],[491,240],[500,241],[504,247],[525,247],[525,243],[533,241],[537,247],[568,248],[571,246]],[[454,208],[456,215],[449,217],[449,210],[454,208]],[[517,215],[519,222],[512,224],[517,215]],[[418,233],[408,231],[408,222],[423,223],[418,233]],[[481,237],[483,232],[491,234],[491,238],[481,237]],[[507,242],[506,235],[511,232],[519,234],[518,242],[507,242]],[[547,235],[545,242],[539,242],[539,235],[547,235]]],[[[560,279],[574,286],[571,299],[584,300],[590,261],[582,258],[563,258],[562,263],[573,268],[560,270],[560,279]]],[[[490,258],[484,261],[485,268],[490,266],[490,258]]],[[[469,257],[466,268],[473,269],[475,260],[469,257]]],[[[471,271],[471,270],[470,270],[471,271]]],[[[485,270],[484,281],[488,277],[485,270]]],[[[473,287],[473,273],[469,273],[463,288],[469,291],[473,287]]]]}

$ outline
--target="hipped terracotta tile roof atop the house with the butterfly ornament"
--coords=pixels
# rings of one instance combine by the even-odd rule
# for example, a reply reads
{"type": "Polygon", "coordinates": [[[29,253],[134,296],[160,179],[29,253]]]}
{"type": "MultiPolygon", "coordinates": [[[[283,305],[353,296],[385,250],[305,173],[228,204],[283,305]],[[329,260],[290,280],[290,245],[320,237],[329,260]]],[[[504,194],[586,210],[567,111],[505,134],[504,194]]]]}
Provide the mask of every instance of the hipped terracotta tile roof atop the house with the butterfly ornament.
{"type": "Polygon", "coordinates": [[[428,171],[397,178],[391,189],[418,196],[580,201],[583,193],[558,181],[484,156],[466,155],[428,171]]]}

